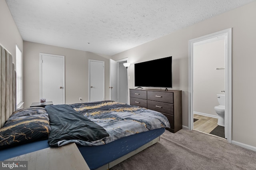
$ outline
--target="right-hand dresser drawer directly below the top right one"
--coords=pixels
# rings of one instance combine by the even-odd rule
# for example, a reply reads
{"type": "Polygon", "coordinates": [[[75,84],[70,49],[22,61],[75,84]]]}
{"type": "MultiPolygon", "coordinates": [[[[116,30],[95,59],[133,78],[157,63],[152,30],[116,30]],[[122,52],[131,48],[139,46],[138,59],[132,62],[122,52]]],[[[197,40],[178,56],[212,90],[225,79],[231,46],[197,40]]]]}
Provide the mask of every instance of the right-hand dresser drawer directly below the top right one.
{"type": "Polygon", "coordinates": [[[148,100],[148,109],[173,115],[173,104],[148,100]]]}

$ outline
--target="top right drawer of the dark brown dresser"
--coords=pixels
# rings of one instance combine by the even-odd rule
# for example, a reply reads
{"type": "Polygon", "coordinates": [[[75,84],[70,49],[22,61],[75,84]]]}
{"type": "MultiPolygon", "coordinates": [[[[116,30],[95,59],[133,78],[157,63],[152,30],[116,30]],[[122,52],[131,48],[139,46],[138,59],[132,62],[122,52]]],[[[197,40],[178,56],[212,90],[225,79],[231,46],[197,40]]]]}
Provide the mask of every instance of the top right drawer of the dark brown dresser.
{"type": "Polygon", "coordinates": [[[148,91],[148,100],[173,103],[173,93],[162,91],[148,91]]]}

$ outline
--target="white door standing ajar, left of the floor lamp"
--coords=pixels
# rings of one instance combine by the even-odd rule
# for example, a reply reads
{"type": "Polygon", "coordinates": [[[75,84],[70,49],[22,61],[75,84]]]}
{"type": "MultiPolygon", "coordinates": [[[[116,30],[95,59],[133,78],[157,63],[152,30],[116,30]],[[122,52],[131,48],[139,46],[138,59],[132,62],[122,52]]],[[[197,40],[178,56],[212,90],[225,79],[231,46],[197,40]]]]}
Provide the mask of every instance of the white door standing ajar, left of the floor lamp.
{"type": "Polygon", "coordinates": [[[118,62],[110,59],[110,100],[118,101],[117,67],[118,62]]]}

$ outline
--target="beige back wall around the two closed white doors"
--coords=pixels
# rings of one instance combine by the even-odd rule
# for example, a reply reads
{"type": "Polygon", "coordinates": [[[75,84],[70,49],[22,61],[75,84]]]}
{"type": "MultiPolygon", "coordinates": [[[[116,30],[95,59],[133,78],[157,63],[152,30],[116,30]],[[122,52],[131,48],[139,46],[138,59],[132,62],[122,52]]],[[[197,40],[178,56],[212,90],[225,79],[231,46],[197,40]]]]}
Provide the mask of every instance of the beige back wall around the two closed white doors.
{"type": "Polygon", "coordinates": [[[109,94],[109,56],[69,48],[24,41],[24,107],[38,102],[39,96],[39,53],[65,56],[66,104],[88,102],[88,60],[105,61],[105,99],[109,94]]]}

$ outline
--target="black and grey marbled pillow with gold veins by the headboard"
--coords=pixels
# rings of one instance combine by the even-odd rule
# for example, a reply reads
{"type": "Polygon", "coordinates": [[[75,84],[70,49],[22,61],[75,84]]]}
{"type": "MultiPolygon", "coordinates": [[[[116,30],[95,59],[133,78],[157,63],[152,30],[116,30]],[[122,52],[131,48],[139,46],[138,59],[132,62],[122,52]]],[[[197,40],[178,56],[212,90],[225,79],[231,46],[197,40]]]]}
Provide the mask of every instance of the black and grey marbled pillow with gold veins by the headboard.
{"type": "Polygon", "coordinates": [[[21,109],[0,128],[0,149],[48,139],[49,117],[42,107],[21,109]]]}

